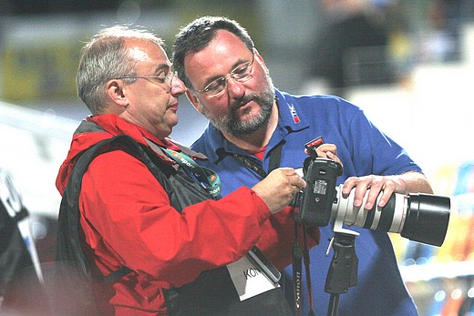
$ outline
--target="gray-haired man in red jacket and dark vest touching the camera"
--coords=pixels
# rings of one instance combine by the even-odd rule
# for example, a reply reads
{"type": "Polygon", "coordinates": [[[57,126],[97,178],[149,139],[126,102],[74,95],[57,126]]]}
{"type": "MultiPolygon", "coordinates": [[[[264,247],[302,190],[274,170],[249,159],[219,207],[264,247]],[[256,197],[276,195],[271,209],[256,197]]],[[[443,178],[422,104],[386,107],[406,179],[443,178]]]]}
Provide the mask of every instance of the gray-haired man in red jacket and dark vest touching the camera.
{"type": "Polygon", "coordinates": [[[79,242],[63,220],[74,219],[74,203],[62,203],[58,235],[66,241],[59,252],[73,253],[65,256],[71,259],[83,251],[102,276],[128,271],[109,285],[98,312],[291,314],[278,283],[263,278],[246,254],[257,246],[276,270],[291,263],[294,220],[287,205],[305,186],[294,169],[275,169],[252,189],[219,199],[218,175],[168,138],[186,88],[160,38],[146,31],[118,25],[94,36],[82,52],[77,89],[92,116],[77,128],[57,189],[64,202],[69,182],[79,188],[79,242]],[[89,148],[119,136],[137,147],[101,150],[82,179],[71,176],[89,148]],[[80,250],[64,246],[74,244],[80,250]]]}

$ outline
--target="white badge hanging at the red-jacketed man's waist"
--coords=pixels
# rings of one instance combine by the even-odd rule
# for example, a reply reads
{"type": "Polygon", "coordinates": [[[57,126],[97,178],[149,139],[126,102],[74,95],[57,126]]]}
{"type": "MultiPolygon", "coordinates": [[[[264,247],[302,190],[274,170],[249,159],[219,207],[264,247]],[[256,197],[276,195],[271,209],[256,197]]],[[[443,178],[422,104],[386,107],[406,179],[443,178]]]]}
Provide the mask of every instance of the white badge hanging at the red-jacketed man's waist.
{"type": "Polygon", "coordinates": [[[228,264],[227,269],[241,301],[280,287],[278,283],[273,285],[246,256],[228,264]]]}

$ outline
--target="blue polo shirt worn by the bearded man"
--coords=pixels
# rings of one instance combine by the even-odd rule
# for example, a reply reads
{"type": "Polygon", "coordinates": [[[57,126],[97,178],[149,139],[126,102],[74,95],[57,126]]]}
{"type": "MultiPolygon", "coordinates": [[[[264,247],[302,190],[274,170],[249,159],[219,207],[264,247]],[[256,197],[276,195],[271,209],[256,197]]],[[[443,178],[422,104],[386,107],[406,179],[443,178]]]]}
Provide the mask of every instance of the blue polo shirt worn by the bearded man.
{"type": "MultiPolygon", "coordinates": [[[[341,159],[343,175],[337,183],[352,176],[396,175],[421,169],[407,152],[378,130],[363,111],[342,98],[334,96],[292,96],[275,90],[279,108],[278,126],[265,150],[263,161],[237,148],[209,125],[191,146],[209,160],[203,166],[216,171],[222,179],[222,195],[241,186],[252,188],[262,178],[247,168],[232,153],[246,155],[268,170],[273,148],[283,141],[280,167],[301,168],[304,144],[323,137],[325,143],[335,144],[341,159]]],[[[340,315],[417,315],[417,308],[401,279],[392,244],[385,232],[350,228],[360,233],[356,238],[359,260],[357,285],[340,295],[340,315]]],[[[330,295],[325,292],[325,279],[331,254],[326,257],[328,241],[334,233],[331,226],[321,228],[321,243],[310,250],[314,311],[327,313],[330,295]]],[[[288,236],[294,238],[294,236],[288,236]]],[[[283,271],[283,289],[287,299],[294,300],[292,267],[283,271]]],[[[303,277],[305,280],[305,276],[303,277]]],[[[304,282],[305,283],[305,282],[304,282]]],[[[303,313],[307,314],[307,289],[304,284],[303,313]]]]}

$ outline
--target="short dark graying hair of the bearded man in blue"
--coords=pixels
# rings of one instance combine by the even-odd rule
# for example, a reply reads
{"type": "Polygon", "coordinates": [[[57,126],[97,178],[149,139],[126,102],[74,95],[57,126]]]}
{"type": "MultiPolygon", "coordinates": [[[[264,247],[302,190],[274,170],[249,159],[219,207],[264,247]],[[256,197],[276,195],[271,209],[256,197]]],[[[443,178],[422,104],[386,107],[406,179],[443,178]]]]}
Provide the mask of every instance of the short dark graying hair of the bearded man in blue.
{"type": "Polygon", "coordinates": [[[191,81],[184,71],[184,58],[207,47],[219,30],[229,31],[239,37],[252,51],[252,38],[236,21],[222,16],[202,16],[192,21],[180,30],[173,46],[173,67],[186,87],[192,88],[191,81]]]}

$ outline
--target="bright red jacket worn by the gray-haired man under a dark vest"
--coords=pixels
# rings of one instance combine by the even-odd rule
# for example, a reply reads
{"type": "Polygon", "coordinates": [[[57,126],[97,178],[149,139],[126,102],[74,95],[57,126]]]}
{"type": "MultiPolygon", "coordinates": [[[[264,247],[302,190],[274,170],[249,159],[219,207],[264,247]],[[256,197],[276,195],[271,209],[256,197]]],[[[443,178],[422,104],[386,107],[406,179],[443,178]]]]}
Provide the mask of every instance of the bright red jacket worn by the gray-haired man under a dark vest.
{"type": "MultiPolygon", "coordinates": [[[[126,134],[179,150],[116,115],[88,117],[106,132],[73,137],[59,169],[63,194],[80,153],[105,138],[126,134]]],[[[222,184],[225,185],[225,184],[222,184]]],[[[166,314],[161,289],[180,287],[211,270],[239,260],[256,243],[282,270],[291,263],[294,221],[286,208],[271,217],[262,199],[242,187],[218,201],[207,200],[179,213],[149,169],[129,154],[99,155],[85,173],[79,196],[80,224],[87,253],[104,274],[123,266],[138,271],[113,284],[109,303],[117,315],[166,314]]]]}

